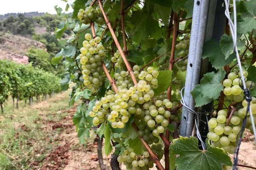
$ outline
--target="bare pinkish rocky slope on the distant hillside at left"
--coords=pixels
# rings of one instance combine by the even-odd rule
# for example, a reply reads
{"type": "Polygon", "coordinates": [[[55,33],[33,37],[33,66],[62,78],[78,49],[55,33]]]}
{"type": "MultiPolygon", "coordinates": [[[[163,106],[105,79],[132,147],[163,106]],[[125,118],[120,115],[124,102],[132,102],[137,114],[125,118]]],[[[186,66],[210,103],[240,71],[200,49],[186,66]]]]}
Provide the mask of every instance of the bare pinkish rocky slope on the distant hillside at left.
{"type": "Polygon", "coordinates": [[[47,51],[46,46],[34,40],[12,34],[0,34],[0,59],[9,59],[18,63],[29,63],[26,53],[29,48],[35,47],[47,51]]]}

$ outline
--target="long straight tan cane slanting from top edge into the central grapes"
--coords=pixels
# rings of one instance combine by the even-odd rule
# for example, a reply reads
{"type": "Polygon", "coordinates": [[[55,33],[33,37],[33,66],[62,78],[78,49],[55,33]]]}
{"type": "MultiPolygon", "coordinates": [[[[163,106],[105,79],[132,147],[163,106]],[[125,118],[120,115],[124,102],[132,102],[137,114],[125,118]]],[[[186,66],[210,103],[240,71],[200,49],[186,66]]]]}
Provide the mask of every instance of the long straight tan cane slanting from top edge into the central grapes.
{"type": "Polygon", "coordinates": [[[132,79],[132,81],[134,82],[134,85],[137,85],[137,80],[136,80],[136,78],[135,78],[135,76],[134,76],[133,69],[131,68],[131,65],[130,65],[130,63],[128,62],[128,60],[126,59],[125,54],[124,54],[124,52],[122,51],[121,45],[119,44],[119,42],[118,42],[118,40],[117,40],[117,38],[116,38],[115,32],[114,32],[114,30],[113,30],[113,28],[112,28],[112,26],[111,26],[111,23],[110,23],[110,21],[109,21],[109,19],[108,19],[108,17],[107,17],[107,14],[106,14],[106,12],[105,12],[105,10],[104,10],[104,8],[103,8],[102,1],[101,1],[101,0],[98,0],[98,3],[99,3],[99,7],[100,7],[100,9],[101,9],[101,11],[102,11],[102,14],[103,14],[103,16],[104,16],[104,19],[105,19],[105,21],[106,21],[106,23],[107,23],[107,26],[108,26],[108,28],[109,28],[109,31],[111,32],[111,35],[112,35],[112,37],[113,37],[113,40],[114,40],[114,42],[115,42],[115,44],[116,44],[116,47],[117,47],[117,49],[118,49],[118,51],[119,51],[119,53],[120,53],[120,55],[121,55],[121,57],[122,57],[122,59],[123,59],[123,61],[124,61],[124,63],[125,63],[125,66],[126,66],[128,72],[129,72],[129,74],[131,75],[131,79],[132,79]]]}

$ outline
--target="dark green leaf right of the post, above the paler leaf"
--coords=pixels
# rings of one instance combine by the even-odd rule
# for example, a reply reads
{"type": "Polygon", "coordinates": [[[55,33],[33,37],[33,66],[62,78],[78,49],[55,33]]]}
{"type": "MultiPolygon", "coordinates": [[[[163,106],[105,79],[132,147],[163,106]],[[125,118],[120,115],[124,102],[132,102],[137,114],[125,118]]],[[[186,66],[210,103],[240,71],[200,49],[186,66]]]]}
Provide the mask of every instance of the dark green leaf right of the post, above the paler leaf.
{"type": "Polygon", "coordinates": [[[230,64],[236,58],[235,54],[231,54],[227,59],[222,54],[219,42],[216,40],[209,40],[204,43],[202,58],[209,57],[209,61],[216,69],[222,68],[224,65],[230,64]]]}

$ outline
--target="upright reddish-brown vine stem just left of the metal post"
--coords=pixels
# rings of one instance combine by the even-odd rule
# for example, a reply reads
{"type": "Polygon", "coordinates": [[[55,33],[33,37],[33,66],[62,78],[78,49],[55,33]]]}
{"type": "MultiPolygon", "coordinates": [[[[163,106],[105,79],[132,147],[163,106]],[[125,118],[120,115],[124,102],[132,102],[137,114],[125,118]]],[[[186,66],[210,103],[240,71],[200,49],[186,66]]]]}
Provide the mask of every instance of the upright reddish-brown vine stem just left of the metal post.
{"type": "MultiPolygon", "coordinates": [[[[171,50],[171,57],[169,60],[169,70],[173,70],[173,66],[175,63],[174,60],[174,56],[175,56],[175,45],[176,45],[176,39],[177,39],[177,29],[178,29],[178,25],[179,25],[179,20],[178,20],[178,15],[177,13],[173,12],[173,21],[174,21],[174,25],[173,25],[173,35],[172,35],[172,50],[171,50]]],[[[170,20],[170,23],[172,22],[172,19],[170,20]]],[[[171,101],[172,98],[172,86],[170,86],[167,90],[167,98],[169,99],[169,101],[171,101]]],[[[170,118],[168,119],[169,123],[170,123],[170,118]]],[[[170,139],[170,131],[167,129],[166,130],[166,138],[170,139]]],[[[165,157],[165,170],[169,170],[170,169],[170,162],[169,162],[169,146],[165,144],[164,147],[164,157],[165,157]]]]}

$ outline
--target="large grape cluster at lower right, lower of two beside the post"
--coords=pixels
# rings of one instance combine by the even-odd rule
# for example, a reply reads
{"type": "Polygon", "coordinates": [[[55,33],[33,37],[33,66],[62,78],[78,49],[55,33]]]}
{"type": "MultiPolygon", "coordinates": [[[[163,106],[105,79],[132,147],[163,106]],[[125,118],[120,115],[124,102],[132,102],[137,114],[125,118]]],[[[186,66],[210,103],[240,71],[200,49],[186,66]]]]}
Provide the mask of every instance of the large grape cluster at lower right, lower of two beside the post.
{"type": "Polygon", "coordinates": [[[207,137],[212,140],[213,147],[221,147],[226,152],[233,154],[236,150],[236,139],[240,136],[242,119],[233,115],[230,125],[226,126],[227,112],[218,111],[217,118],[212,118],[208,122],[209,133],[207,137]]]}

